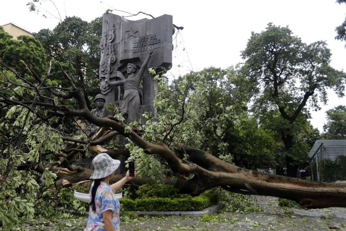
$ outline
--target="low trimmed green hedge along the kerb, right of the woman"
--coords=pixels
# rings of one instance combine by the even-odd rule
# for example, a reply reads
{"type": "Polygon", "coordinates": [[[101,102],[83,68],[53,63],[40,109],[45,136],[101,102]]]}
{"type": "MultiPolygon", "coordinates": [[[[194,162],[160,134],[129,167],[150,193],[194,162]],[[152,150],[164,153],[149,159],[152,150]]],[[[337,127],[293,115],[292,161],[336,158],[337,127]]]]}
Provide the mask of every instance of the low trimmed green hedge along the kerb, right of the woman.
{"type": "Polygon", "coordinates": [[[143,198],[131,200],[120,199],[122,209],[125,211],[200,211],[211,205],[210,199],[206,196],[185,197],[185,198],[143,198]]]}

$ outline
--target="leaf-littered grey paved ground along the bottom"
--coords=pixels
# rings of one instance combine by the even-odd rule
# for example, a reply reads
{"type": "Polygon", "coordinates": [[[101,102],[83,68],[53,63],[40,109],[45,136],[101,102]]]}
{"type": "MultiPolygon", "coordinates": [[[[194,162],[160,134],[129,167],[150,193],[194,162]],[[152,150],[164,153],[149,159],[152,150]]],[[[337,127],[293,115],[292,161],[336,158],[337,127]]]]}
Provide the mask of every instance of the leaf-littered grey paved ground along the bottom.
{"type": "MultiPolygon", "coordinates": [[[[221,212],[206,217],[122,217],[120,228],[126,231],[173,231],[173,230],[346,230],[346,208],[290,209],[284,211],[277,205],[277,198],[257,196],[257,204],[263,212],[239,214],[221,212]]],[[[121,215],[120,215],[121,216],[121,215]]],[[[17,230],[76,230],[82,231],[87,219],[43,221],[22,224],[17,230]]]]}

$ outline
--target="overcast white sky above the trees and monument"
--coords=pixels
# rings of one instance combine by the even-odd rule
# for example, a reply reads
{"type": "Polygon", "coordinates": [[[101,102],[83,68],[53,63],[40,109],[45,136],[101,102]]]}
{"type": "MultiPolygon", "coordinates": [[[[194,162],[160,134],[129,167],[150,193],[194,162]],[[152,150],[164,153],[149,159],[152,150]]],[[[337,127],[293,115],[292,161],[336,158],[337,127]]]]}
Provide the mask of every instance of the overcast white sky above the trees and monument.
{"type": "MultiPolygon", "coordinates": [[[[29,12],[26,4],[29,0],[0,0],[0,25],[10,22],[38,32],[43,28],[53,29],[58,20],[48,14],[29,12]]],[[[327,41],[331,49],[331,66],[341,70],[345,68],[345,43],[334,39],[335,27],[345,19],[346,5],[334,0],[247,0],[247,1],[188,1],[188,0],[55,0],[61,17],[78,16],[91,21],[102,16],[107,9],[116,8],[136,14],[146,12],[154,17],[173,15],[173,23],[183,26],[181,37],[177,39],[178,48],[173,59],[174,74],[183,74],[187,69],[201,70],[208,66],[227,68],[242,62],[240,51],[246,47],[251,31],[261,32],[267,23],[289,25],[294,35],[303,42],[327,41]],[[183,48],[184,51],[183,51],[183,48]],[[185,69],[177,68],[177,65],[185,69]]],[[[42,1],[42,8],[58,16],[51,1],[42,1]]],[[[41,9],[41,13],[44,13],[41,9]]],[[[120,16],[121,12],[113,11],[120,16]]],[[[131,20],[143,18],[131,17],[131,20]]],[[[346,92],[345,92],[346,94],[346,92]]],[[[346,103],[346,97],[338,99],[333,92],[329,94],[327,105],[321,105],[319,112],[312,112],[311,123],[322,131],[326,122],[325,111],[346,103]]]]}

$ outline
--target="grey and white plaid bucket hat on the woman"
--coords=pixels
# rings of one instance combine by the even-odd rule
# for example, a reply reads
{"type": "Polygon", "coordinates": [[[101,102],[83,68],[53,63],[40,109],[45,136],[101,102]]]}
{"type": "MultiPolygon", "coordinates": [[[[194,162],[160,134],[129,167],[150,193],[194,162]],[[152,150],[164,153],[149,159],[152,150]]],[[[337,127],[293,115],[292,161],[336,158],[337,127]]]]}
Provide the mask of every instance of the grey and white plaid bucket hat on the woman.
{"type": "Polygon", "coordinates": [[[95,180],[111,175],[119,167],[120,161],[112,159],[107,153],[100,153],[92,160],[92,165],[94,166],[92,178],[95,180]]]}

